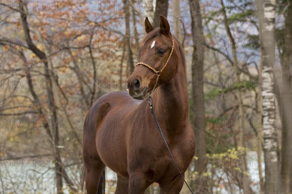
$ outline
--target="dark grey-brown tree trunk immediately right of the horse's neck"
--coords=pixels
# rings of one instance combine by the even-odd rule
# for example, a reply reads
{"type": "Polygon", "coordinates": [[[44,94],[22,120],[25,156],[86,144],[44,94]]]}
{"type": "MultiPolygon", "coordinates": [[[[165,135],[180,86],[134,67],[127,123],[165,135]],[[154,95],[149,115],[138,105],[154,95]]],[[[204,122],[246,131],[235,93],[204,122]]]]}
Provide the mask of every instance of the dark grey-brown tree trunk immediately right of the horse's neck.
{"type": "MultiPolygon", "coordinates": [[[[192,59],[192,99],[193,99],[193,122],[196,137],[195,156],[203,160],[206,156],[205,142],[205,106],[204,106],[204,88],[198,85],[203,80],[203,64],[204,64],[204,47],[198,46],[199,41],[204,40],[201,10],[199,0],[189,0],[190,13],[192,18],[192,35],[193,35],[193,59],[192,59]]],[[[199,44],[200,45],[200,44],[199,44]]],[[[209,193],[207,187],[207,179],[202,176],[206,171],[204,162],[198,162],[195,167],[198,172],[198,178],[195,180],[196,191],[200,194],[209,193]]]]}

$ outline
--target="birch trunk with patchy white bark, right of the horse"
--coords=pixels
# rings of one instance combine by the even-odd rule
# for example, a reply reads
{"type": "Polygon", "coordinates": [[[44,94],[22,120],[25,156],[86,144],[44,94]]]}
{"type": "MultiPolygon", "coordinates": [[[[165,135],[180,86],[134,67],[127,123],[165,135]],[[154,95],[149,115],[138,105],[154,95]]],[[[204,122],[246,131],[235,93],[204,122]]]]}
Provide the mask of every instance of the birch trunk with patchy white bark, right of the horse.
{"type": "Polygon", "coordinates": [[[274,19],[275,1],[266,0],[263,19],[260,22],[260,38],[263,42],[263,73],[262,73],[262,111],[263,111],[263,150],[265,158],[265,194],[279,192],[278,142],[275,128],[276,97],[274,93],[274,19]]]}

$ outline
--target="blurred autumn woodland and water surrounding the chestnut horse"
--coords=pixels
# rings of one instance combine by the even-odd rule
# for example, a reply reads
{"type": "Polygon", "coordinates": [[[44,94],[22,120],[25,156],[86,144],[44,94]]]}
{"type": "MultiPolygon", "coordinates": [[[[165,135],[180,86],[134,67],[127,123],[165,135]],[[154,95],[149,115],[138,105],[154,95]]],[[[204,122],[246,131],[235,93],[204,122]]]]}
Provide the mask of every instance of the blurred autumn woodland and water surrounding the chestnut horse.
{"type": "MultiPolygon", "coordinates": [[[[194,193],[292,193],[291,0],[0,6],[1,194],[82,193],[85,116],[103,94],[126,91],[145,17],[158,27],[160,15],[186,57],[194,193]]],[[[115,184],[107,169],[106,192],[115,184]]]]}

